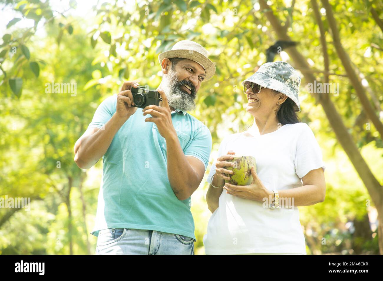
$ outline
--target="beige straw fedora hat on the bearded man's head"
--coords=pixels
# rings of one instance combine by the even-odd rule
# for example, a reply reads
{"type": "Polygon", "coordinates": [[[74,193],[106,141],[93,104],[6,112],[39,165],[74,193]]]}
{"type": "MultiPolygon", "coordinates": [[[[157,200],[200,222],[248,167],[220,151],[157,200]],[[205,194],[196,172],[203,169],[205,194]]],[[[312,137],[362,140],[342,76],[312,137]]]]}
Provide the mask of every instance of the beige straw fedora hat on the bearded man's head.
{"type": "Polygon", "coordinates": [[[164,58],[188,58],[194,60],[205,69],[205,81],[213,77],[216,70],[214,63],[208,59],[208,51],[200,44],[190,40],[178,41],[171,50],[159,54],[158,60],[160,64],[164,58]]]}

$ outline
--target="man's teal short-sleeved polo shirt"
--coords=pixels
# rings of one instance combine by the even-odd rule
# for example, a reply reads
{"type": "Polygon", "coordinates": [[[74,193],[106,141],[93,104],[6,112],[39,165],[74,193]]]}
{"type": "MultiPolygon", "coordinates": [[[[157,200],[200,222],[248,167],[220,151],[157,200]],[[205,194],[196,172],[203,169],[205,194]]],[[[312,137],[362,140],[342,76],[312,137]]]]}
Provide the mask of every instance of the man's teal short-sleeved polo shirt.
{"type": "MultiPolygon", "coordinates": [[[[101,128],[116,112],[117,94],[96,109],[89,128],[101,128]]],[[[182,151],[206,168],[211,152],[211,133],[187,112],[171,113],[182,151]]],[[[142,109],[124,123],[103,156],[103,175],[95,226],[148,229],[195,238],[191,198],[179,200],[167,175],[167,147],[157,125],[144,120],[142,109]]]]}

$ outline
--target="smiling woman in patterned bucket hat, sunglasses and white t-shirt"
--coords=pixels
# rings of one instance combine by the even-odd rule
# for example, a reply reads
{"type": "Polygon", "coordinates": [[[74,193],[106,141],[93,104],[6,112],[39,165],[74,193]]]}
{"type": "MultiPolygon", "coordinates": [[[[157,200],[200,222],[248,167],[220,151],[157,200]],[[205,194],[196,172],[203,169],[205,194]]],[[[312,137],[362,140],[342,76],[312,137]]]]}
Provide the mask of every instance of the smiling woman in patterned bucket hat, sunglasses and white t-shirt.
{"type": "Polygon", "coordinates": [[[208,175],[213,214],[206,254],[306,254],[296,206],[323,202],[326,184],[318,142],[295,113],[300,80],[288,63],[272,62],[242,82],[254,123],[223,139],[208,175]],[[226,160],[234,154],[255,157],[252,184],[225,184],[234,165],[226,160]]]}

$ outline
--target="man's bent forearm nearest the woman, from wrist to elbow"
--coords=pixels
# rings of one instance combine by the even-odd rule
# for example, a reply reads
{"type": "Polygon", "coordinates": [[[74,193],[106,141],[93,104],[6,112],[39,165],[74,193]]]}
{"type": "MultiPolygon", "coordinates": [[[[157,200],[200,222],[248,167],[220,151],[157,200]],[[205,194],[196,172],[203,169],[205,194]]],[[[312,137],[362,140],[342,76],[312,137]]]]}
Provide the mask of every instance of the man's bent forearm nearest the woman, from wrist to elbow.
{"type": "Polygon", "coordinates": [[[197,174],[183,154],[177,134],[166,140],[167,173],[175,195],[185,200],[198,188],[197,174]]]}

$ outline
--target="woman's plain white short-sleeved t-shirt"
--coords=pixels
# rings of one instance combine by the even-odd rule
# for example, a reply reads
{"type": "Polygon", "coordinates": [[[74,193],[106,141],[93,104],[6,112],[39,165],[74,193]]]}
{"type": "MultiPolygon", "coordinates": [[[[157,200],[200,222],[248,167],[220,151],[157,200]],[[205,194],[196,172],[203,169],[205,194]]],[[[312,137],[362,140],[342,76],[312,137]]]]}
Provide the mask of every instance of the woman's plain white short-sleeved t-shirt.
{"type": "MultiPolygon", "coordinates": [[[[301,178],[309,171],[325,169],[321,148],[306,123],[286,124],[264,135],[259,134],[254,123],[248,131],[226,136],[217,158],[229,150],[255,157],[256,172],[268,190],[300,187],[301,178]]],[[[215,163],[207,178],[209,183],[215,163]]],[[[225,189],[218,204],[203,237],[206,254],[306,254],[297,207],[264,208],[262,201],[236,197],[225,189]]]]}

